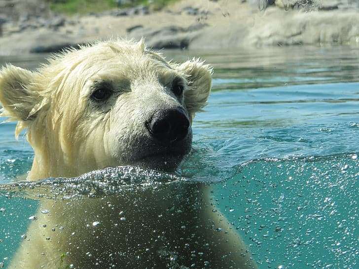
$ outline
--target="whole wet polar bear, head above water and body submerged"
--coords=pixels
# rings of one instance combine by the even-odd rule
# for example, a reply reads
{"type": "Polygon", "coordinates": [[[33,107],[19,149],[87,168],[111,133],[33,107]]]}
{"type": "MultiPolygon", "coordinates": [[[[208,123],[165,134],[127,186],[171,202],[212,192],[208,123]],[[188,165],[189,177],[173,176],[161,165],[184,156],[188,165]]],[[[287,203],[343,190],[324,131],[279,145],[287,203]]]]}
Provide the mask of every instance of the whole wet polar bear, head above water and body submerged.
{"type": "MultiPolygon", "coordinates": [[[[174,171],[211,81],[212,67],[198,59],[176,64],[143,41],[109,40],[35,72],[3,67],[0,103],[16,135],[28,130],[28,180],[124,165],[174,171]]],[[[204,184],[47,200],[38,210],[10,268],[256,268],[204,184]]]]}

